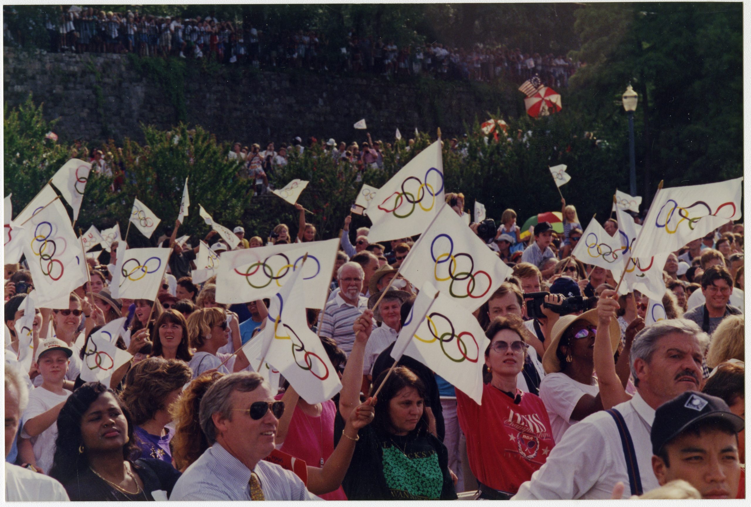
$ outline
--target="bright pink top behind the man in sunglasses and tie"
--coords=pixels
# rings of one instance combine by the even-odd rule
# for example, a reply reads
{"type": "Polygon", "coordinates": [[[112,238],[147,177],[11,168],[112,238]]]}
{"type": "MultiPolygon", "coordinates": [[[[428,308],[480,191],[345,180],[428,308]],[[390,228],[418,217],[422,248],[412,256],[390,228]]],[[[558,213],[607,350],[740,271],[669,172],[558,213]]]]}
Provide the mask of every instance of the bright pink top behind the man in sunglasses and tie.
{"type": "MultiPolygon", "coordinates": [[[[275,397],[282,399],[282,394],[275,397]]],[[[303,413],[299,406],[294,407],[289,430],[279,451],[304,460],[308,466],[321,466],[333,453],[333,420],[336,417],[336,404],[328,400],[323,403],[320,417],[303,413]]],[[[331,493],[318,495],[324,500],[345,500],[347,496],[341,486],[331,493]]]]}

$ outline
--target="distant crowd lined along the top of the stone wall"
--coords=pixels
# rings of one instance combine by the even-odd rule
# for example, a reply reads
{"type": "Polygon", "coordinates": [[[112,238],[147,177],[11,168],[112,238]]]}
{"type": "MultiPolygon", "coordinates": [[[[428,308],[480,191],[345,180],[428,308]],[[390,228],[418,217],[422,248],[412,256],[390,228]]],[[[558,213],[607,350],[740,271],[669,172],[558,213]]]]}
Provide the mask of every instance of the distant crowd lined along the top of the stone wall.
{"type": "MultiPolygon", "coordinates": [[[[7,17],[13,19],[12,8],[7,17]]],[[[288,30],[269,38],[252,23],[205,17],[183,19],[140,13],[60,8],[45,22],[46,49],[53,53],[137,53],[214,59],[225,64],[257,68],[308,68],[316,71],[367,72],[385,76],[421,75],[444,80],[490,82],[498,77],[522,83],[538,74],[553,88],[568,86],[581,65],[568,56],[522,51],[499,44],[453,47],[440,42],[397,46],[391,39],[349,30],[345,45],[333,47],[327,35],[315,30],[288,30]]],[[[5,44],[23,44],[5,23],[5,44]]],[[[35,41],[40,44],[40,41],[35,41]]],[[[45,47],[45,44],[41,44],[45,47]]]]}

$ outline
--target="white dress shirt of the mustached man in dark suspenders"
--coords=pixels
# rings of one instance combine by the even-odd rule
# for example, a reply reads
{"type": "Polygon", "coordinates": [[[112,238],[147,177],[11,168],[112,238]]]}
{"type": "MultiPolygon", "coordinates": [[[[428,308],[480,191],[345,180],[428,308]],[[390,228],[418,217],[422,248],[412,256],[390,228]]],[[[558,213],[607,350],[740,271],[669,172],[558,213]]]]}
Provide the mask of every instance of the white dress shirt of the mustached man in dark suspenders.
{"type": "MultiPolygon", "coordinates": [[[[655,409],[638,393],[614,409],[623,415],[631,433],[644,493],[653,490],[659,486],[652,471],[650,441],[655,409]]],[[[513,499],[610,499],[618,481],[626,484],[623,498],[629,498],[629,472],[620,433],[613,417],[600,411],[563,434],[545,464],[520,486],[513,499]]]]}

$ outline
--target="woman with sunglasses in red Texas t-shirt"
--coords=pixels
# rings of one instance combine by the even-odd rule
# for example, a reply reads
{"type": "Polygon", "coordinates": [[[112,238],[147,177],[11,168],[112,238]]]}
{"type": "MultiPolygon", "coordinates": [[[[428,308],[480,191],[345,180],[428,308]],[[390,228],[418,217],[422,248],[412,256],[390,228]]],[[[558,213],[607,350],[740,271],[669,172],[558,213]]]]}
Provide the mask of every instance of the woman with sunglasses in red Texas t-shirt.
{"type": "Polygon", "coordinates": [[[485,331],[482,404],[457,389],[457,415],[481,498],[508,499],[552,450],[553,430],[542,400],[517,389],[526,344],[516,315],[496,317],[485,331]]]}

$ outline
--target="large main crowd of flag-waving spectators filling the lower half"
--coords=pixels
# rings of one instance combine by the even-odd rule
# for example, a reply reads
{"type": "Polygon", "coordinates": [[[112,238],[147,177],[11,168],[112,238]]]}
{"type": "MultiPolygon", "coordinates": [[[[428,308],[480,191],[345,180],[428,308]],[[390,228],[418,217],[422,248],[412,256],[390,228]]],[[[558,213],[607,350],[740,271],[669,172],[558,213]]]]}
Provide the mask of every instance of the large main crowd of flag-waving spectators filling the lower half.
{"type": "MultiPolygon", "coordinates": [[[[394,364],[415,240],[371,242],[351,216],[327,303],[300,308],[342,383],[321,403],[254,371],[242,348],[270,301],[218,303],[216,276],[195,283],[198,246],[177,240],[179,221],[156,243],[171,252],[155,300],[113,297],[119,242],[95,251],[68,309],[37,310],[28,371],[16,323],[35,280],[5,264],[6,499],[745,496],[742,223],[671,253],[666,316],[646,325],[646,295],[617,297],[614,273],[571,257],[583,233],[566,201],[560,233],[521,231],[508,209],[490,235],[461,193],[446,202],[512,270],[474,312],[490,342],[482,403],[409,355],[394,364]],[[556,312],[572,297],[592,304],[556,312]],[[131,361],[83,382],[90,337],[121,317],[131,361]]],[[[237,248],[315,241],[296,207],[299,222],[268,238],[238,224],[237,248]]],[[[603,227],[618,234],[616,219],[603,227]]],[[[215,231],[204,240],[220,260],[230,249],[215,231]]]]}

